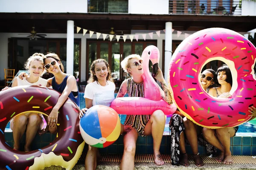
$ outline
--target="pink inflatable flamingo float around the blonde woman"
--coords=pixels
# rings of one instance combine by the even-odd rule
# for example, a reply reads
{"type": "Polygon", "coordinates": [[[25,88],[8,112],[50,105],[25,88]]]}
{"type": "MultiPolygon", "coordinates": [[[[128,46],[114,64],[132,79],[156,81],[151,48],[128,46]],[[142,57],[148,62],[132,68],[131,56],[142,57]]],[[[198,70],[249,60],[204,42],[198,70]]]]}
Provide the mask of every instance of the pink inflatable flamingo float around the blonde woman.
{"type": "Polygon", "coordinates": [[[153,76],[157,74],[158,62],[160,58],[159,50],[156,46],[146,47],[142,53],[143,59],[143,82],[144,97],[118,97],[111,103],[118,114],[152,114],[156,110],[161,110],[165,115],[174,113],[177,109],[175,104],[169,105],[161,98],[160,89],[157,82],[151,76],[148,68],[149,59],[153,64],[153,76]]]}

